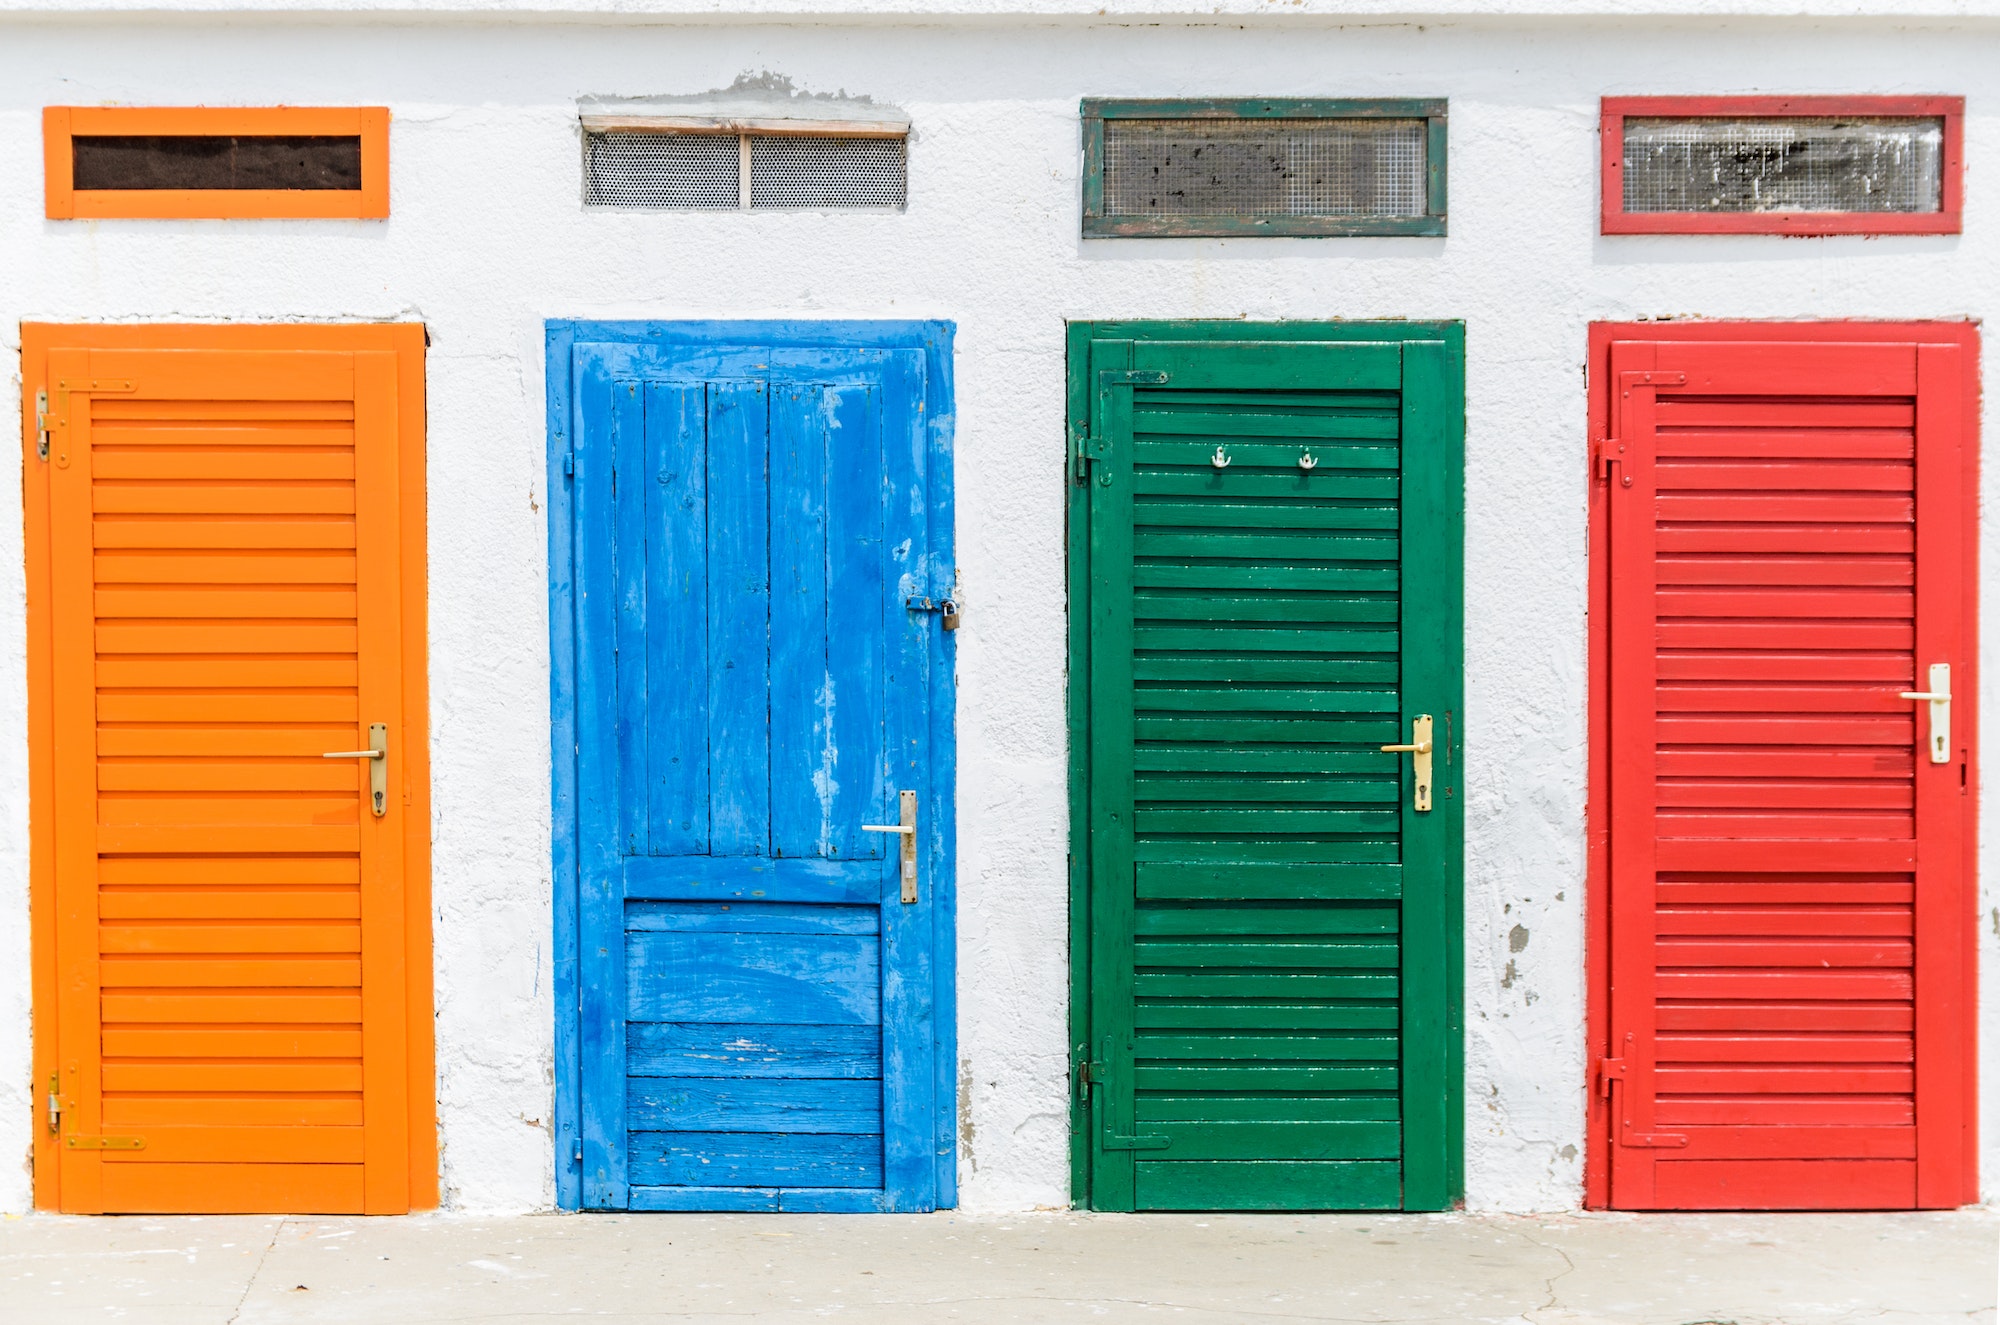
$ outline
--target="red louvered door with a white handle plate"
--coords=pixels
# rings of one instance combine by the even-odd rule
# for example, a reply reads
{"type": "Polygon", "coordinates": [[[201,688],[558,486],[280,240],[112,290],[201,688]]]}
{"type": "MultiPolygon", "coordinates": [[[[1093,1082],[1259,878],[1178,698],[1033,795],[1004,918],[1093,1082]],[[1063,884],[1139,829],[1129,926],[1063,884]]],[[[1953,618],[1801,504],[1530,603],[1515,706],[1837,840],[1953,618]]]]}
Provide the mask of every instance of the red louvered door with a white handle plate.
{"type": "Polygon", "coordinates": [[[1734,330],[1598,360],[1596,1195],[1958,1205],[1974,350],[1734,330]]]}

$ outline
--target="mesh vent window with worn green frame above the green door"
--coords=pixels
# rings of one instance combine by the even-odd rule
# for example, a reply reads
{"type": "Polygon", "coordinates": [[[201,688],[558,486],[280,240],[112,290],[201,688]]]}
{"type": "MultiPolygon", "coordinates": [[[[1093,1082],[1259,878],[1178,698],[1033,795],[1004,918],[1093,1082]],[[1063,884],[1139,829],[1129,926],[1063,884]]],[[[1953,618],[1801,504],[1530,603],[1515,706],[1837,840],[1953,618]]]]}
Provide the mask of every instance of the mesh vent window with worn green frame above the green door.
{"type": "Polygon", "coordinates": [[[1084,102],[1084,234],[1444,234],[1444,102],[1084,102]]]}

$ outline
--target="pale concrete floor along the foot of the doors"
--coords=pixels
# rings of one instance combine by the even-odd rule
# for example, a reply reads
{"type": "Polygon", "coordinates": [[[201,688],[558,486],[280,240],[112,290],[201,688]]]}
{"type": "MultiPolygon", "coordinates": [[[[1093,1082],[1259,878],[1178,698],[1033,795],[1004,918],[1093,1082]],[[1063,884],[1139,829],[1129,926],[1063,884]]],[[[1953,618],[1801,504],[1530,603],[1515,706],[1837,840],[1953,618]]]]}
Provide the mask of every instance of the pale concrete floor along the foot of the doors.
{"type": "Polygon", "coordinates": [[[2000,1215],[0,1221],[6,1325],[1994,1321],[2000,1215]]]}

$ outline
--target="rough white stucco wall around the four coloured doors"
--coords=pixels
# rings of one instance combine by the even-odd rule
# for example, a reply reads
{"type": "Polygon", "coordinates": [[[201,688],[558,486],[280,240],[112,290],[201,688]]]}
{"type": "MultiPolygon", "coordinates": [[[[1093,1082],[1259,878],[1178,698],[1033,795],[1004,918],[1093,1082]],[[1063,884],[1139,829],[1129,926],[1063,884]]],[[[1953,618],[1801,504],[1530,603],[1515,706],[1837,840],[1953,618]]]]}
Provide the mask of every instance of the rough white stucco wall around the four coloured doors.
{"type": "MultiPolygon", "coordinates": [[[[1250,6],[1252,26],[952,26],[934,14],[928,26],[806,28],[620,24],[606,6],[572,26],[324,14],[64,26],[28,8],[0,6],[0,340],[14,382],[0,418],[20,398],[20,320],[430,328],[438,1099],[444,1201],[460,1211],[552,1203],[544,318],[958,324],[960,1169],[976,1209],[1068,1201],[1064,320],[1466,320],[1466,1195],[1562,1209],[1580,1199],[1586,1081],[1586,324],[1958,318],[2000,302],[2000,112],[1982,100],[2000,26],[1984,18],[1338,26],[1250,6]],[[702,92],[760,70],[908,110],[908,212],[580,208],[578,96],[702,92]],[[1596,100],[1608,92],[1970,94],[1966,232],[1600,238],[1596,100]],[[1086,244],[1084,94],[1450,96],[1452,234],[1086,244]],[[394,214],[44,220],[40,108],[94,102],[388,104],[394,214]]],[[[1988,410],[1986,436],[1996,430],[1988,410]]],[[[20,1157],[0,1163],[8,1211],[30,1205],[36,1117],[14,456],[0,448],[0,1155],[20,1157]]],[[[1990,526],[1982,550],[1992,580],[1990,526]]],[[[1994,695],[1990,675],[1982,701],[1994,695]]],[[[1980,917],[1982,1041],[1994,1045],[1990,883],[1980,917]]],[[[1988,1063],[1988,1193],[1994,1081],[1988,1063]]]]}

